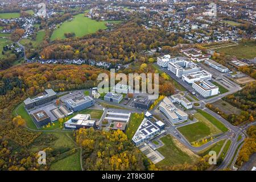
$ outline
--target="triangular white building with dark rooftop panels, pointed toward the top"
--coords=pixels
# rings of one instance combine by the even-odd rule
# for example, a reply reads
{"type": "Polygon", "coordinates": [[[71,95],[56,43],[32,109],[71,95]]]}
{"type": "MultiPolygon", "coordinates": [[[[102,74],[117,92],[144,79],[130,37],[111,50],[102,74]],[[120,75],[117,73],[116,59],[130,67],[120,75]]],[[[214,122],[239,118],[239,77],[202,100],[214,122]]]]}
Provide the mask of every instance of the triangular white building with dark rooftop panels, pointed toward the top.
{"type": "Polygon", "coordinates": [[[141,125],[139,125],[139,128],[136,131],[135,135],[133,136],[132,140],[136,146],[139,146],[146,140],[155,137],[155,135],[159,134],[162,131],[162,129],[162,122],[158,122],[158,124],[155,124],[147,118],[144,118],[143,121],[141,122],[141,125]]]}

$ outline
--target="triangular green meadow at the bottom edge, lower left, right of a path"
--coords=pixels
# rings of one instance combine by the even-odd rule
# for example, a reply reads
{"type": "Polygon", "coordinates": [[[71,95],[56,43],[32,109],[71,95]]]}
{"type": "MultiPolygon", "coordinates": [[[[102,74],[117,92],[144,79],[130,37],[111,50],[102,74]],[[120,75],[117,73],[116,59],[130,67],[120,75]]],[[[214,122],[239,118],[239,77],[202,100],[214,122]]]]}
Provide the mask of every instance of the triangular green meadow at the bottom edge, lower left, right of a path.
{"type": "Polygon", "coordinates": [[[51,164],[50,171],[81,171],[80,150],[51,164]]]}

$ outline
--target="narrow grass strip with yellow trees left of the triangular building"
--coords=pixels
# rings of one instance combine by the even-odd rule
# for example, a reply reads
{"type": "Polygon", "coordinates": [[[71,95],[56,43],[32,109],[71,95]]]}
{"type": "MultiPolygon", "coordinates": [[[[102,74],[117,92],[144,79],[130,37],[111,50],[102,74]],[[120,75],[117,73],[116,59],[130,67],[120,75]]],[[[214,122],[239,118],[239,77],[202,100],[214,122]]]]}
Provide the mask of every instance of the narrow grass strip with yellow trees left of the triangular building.
{"type": "Polygon", "coordinates": [[[136,133],[143,119],[144,119],[144,115],[142,114],[136,114],[136,113],[131,114],[130,121],[128,123],[128,127],[126,130],[126,135],[129,139],[133,138],[133,135],[136,133]]]}

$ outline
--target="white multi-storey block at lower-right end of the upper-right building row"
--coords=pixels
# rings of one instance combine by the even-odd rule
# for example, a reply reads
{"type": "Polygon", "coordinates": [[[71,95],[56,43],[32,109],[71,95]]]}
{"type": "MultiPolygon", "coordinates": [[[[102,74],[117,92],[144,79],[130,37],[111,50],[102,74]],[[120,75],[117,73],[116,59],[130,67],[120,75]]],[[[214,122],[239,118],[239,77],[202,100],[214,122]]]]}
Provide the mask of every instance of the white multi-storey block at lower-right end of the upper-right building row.
{"type": "Polygon", "coordinates": [[[193,82],[192,88],[203,97],[210,97],[218,94],[218,86],[207,80],[193,82]]]}

